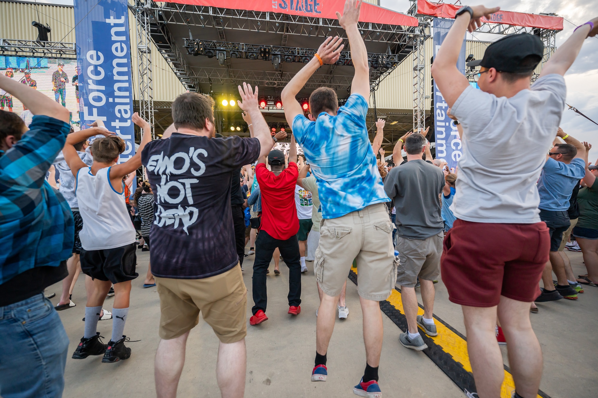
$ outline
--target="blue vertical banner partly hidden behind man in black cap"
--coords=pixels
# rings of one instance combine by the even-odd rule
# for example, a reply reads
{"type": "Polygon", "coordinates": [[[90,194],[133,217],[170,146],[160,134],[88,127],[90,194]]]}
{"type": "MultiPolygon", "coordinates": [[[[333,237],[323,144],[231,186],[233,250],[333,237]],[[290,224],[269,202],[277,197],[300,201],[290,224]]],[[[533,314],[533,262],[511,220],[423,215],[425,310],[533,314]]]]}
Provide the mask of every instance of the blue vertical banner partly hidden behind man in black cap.
{"type": "MultiPolygon", "coordinates": [[[[443,44],[444,38],[451,26],[453,26],[453,19],[434,18],[432,28],[434,33],[432,35],[432,45],[434,45],[434,58],[440,45],[443,44]]],[[[459,52],[459,59],[457,60],[457,69],[465,75],[465,39],[459,52]]],[[[443,159],[451,167],[456,168],[457,162],[462,156],[461,139],[459,138],[459,131],[454,121],[447,116],[449,105],[444,100],[443,94],[438,90],[436,82],[434,82],[434,134],[436,139],[436,158],[443,159]]]]}

